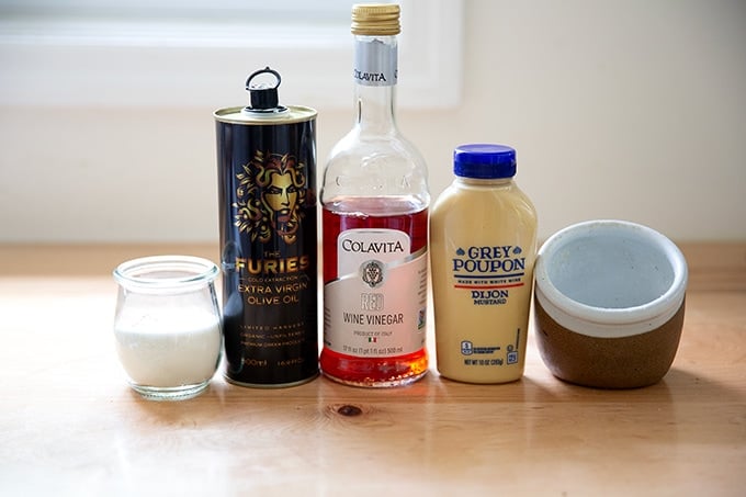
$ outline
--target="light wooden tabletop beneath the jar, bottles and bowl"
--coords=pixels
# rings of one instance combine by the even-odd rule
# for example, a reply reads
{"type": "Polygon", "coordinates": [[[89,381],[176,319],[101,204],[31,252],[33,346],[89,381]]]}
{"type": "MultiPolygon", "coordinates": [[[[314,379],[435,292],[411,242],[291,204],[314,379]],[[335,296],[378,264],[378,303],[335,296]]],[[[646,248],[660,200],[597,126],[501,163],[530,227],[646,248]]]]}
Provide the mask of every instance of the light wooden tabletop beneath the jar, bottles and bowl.
{"type": "Polygon", "coordinates": [[[0,248],[0,495],[746,492],[744,280],[690,287],[674,365],[647,388],[563,383],[530,340],[506,385],[431,368],[400,388],[252,389],[218,373],[200,397],[157,403],[126,385],[112,336],[109,272],[139,252],[156,253],[0,248]]]}

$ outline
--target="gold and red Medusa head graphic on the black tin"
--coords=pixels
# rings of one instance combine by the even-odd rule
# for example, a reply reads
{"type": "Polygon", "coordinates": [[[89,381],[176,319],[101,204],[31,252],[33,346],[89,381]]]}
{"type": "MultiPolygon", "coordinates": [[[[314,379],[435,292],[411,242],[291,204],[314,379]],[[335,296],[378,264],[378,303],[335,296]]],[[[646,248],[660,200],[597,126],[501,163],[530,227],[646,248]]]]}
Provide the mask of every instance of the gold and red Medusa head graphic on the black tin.
{"type": "Polygon", "coordinates": [[[257,150],[241,169],[233,204],[238,230],[249,234],[251,241],[265,242],[276,234],[285,244],[294,244],[303,217],[301,206],[308,195],[305,165],[289,154],[257,150]]]}

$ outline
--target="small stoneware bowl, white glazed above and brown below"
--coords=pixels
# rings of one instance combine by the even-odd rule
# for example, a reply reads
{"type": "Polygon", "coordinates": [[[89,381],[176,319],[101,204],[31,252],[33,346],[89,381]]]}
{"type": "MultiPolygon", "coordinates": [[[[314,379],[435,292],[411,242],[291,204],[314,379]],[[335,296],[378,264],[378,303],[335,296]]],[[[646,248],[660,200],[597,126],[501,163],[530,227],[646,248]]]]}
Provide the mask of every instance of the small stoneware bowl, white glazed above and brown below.
{"type": "Polygon", "coordinates": [[[671,240],[624,221],[579,223],[542,245],[534,274],[536,342],[555,376],[633,388],[668,372],[688,279],[671,240]]]}

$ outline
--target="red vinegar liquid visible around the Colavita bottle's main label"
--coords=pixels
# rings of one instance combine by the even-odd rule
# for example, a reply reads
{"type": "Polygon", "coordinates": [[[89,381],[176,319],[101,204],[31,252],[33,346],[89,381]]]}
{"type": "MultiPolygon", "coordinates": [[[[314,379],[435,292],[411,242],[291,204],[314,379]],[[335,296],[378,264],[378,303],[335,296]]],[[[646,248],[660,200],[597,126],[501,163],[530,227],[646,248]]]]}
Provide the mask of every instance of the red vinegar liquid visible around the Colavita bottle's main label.
{"type": "MultiPolygon", "coordinates": [[[[428,239],[428,210],[409,199],[349,197],[329,202],[323,208],[324,284],[337,280],[337,239],[348,229],[395,229],[410,239],[410,253],[422,250],[428,239]],[[394,214],[389,214],[394,213],[394,214]]],[[[411,292],[420,291],[412,281],[411,292]]],[[[325,314],[334,302],[325,302],[325,314]]],[[[410,332],[416,332],[411,330],[410,332]]],[[[427,373],[425,346],[405,354],[360,357],[331,350],[325,342],[320,355],[325,375],[340,383],[359,386],[396,386],[415,382],[427,373]]]]}

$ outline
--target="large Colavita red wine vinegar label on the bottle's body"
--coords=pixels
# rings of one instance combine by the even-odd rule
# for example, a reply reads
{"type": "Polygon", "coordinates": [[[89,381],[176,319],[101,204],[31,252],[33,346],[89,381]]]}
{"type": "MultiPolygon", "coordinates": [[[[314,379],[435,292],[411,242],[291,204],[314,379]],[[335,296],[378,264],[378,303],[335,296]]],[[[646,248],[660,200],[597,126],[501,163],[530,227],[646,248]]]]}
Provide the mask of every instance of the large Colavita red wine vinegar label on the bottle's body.
{"type": "Polygon", "coordinates": [[[327,347],[364,358],[402,355],[425,346],[427,251],[409,253],[410,245],[409,236],[396,229],[339,235],[339,278],[325,289],[327,347]]]}

